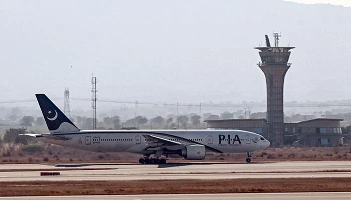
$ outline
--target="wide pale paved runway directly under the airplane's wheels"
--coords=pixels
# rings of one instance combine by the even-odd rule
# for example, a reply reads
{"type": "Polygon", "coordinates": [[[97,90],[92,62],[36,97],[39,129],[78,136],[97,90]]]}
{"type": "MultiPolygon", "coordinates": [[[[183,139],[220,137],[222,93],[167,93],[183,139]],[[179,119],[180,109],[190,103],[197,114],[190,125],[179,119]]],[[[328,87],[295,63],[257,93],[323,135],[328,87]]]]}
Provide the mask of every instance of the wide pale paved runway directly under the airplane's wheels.
{"type": "Polygon", "coordinates": [[[194,162],[160,165],[136,163],[0,165],[0,181],[293,177],[351,177],[351,161],[253,162],[250,164],[243,162],[194,162]],[[59,171],[61,175],[40,176],[40,170],[59,171]]]}

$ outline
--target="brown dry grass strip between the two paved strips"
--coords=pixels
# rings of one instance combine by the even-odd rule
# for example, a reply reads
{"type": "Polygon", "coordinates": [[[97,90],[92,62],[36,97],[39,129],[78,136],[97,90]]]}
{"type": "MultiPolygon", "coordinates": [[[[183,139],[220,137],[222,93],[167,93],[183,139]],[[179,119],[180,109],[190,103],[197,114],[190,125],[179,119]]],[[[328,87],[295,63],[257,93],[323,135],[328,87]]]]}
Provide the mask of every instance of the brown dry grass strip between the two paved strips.
{"type": "Polygon", "coordinates": [[[9,181],[1,196],[351,191],[351,178],[262,178],[224,180],[9,181]]]}

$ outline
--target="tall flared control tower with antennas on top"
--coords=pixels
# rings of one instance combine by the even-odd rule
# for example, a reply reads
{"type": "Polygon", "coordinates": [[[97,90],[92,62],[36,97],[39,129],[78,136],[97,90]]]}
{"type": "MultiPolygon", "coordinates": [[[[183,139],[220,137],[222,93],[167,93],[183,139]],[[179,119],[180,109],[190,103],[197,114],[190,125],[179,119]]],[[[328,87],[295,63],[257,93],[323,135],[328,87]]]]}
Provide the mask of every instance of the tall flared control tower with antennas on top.
{"type": "Polygon", "coordinates": [[[275,44],[271,46],[269,38],[266,37],[266,46],[257,48],[261,62],[257,65],[263,71],[267,84],[267,121],[269,123],[270,138],[272,146],[283,144],[284,132],[284,108],[283,91],[284,76],[291,63],[288,63],[290,49],[292,46],[279,46],[279,33],[273,33],[275,44]]]}

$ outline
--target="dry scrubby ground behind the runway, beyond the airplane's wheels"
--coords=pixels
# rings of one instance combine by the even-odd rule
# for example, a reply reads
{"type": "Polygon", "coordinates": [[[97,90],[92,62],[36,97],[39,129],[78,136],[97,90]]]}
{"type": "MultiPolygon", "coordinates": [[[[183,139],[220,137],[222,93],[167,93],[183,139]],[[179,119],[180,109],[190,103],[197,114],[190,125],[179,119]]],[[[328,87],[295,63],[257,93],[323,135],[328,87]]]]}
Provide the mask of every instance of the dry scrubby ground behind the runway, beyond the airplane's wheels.
{"type": "MultiPolygon", "coordinates": [[[[32,148],[23,145],[0,144],[0,163],[79,163],[79,162],[137,162],[140,155],[132,153],[93,153],[54,144],[37,143],[32,148]],[[39,146],[39,147],[38,147],[39,146]]],[[[170,159],[179,156],[171,156],[170,159]]],[[[243,161],[245,153],[207,155],[203,161],[243,161]]],[[[253,161],[351,160],[351,145],[335,147],[266,148],[256,151],[253,161]]],[[[177,161],[169,160],[168,162],[177,161]]],[[[184,160],[182,160],[184,161],[184,160]]]]}

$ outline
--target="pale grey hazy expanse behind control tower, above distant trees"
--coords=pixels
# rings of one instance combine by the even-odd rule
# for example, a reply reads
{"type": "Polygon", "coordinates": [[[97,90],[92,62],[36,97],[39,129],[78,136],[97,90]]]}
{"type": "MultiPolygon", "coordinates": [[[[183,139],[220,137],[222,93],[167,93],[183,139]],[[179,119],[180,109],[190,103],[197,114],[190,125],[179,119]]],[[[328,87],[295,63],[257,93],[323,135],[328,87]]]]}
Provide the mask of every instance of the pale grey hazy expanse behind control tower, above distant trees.
{"type": "Polygon", "coordinates": [[[0,91],[90,98],[94,73],[100,99],[261,101],[253,47],[275,30],[296,46],[284,100],[350,99],[350,21],[349,7],[280,0],[0,0],[0,91]]]}

